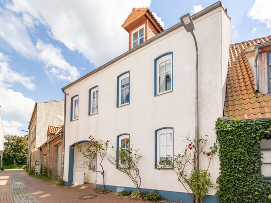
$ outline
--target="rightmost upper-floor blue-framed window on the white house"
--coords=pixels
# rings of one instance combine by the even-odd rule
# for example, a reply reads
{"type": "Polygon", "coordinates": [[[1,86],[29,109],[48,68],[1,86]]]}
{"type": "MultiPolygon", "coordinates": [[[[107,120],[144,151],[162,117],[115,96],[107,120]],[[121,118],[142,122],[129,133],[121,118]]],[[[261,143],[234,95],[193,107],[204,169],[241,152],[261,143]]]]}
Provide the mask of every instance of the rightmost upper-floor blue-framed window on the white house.
{"type": "Polygon", "coordinates": [[[154,59],[154,95],[173,91],[173,52],[154,59]]]}

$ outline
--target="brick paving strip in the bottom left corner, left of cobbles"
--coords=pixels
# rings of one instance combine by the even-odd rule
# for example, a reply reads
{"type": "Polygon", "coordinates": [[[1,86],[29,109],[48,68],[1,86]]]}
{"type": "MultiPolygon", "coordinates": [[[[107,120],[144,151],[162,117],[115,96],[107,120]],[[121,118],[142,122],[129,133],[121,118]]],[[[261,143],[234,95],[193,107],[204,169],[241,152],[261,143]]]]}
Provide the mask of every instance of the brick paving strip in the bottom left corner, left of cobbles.
{"type": "Polygon", "coordinates": [[[15,203],[11,193],[11,171],[0,171],[0,203],[15,203]]]}

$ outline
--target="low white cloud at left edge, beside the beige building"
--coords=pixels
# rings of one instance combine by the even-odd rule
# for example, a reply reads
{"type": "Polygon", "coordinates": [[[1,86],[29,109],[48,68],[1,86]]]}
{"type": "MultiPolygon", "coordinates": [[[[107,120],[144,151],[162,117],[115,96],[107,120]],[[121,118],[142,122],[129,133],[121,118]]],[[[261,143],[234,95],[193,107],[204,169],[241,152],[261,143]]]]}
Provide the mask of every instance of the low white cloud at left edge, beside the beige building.
{"type": "Polygon", "coordinates": [[[21,83],[29,90],[34,89],[32,83],[33,77],[23,76],[21,73],[13,71],[8,64],[9,57],[0,52],[0,106],[2,117],[8,117],[10,122],[3,122],[3,128],[5,134],[19,133],[18,127],[22,127],[22,123],[28,123],[34,101],[30,98],[26,98],[20,92],[15,92],[10,89],[12,84],[17,82],[21,83]]]}

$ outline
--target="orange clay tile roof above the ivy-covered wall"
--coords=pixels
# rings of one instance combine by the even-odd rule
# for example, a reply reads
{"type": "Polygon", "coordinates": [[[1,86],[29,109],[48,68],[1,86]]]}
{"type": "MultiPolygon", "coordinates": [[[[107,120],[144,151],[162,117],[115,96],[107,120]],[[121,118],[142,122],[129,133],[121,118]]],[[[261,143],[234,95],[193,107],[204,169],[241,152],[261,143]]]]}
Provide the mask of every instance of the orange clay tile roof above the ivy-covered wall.
{"type": "Polygon", "coordinates": [[[244,49],[271,41],[271,35],[230,45],[224,115],[229,119],[271,117],[271,95],[254,91],[254,76],[244,49]]]}

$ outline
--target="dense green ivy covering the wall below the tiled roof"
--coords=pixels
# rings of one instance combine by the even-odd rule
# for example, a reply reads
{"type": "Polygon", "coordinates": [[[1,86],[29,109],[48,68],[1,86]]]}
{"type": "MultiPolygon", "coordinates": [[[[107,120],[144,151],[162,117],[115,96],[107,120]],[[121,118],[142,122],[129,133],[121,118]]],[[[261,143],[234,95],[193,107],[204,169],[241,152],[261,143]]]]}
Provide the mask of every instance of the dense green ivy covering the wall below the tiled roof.
{"type": "Polygon", "coordinates": [[[271,138],[271,119],[216,122],[220,203],[271,203],[271,182],[261,174],[263,138],[271,138]]]}

